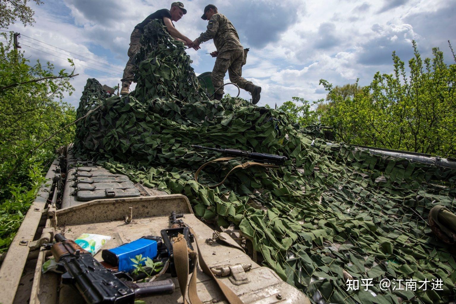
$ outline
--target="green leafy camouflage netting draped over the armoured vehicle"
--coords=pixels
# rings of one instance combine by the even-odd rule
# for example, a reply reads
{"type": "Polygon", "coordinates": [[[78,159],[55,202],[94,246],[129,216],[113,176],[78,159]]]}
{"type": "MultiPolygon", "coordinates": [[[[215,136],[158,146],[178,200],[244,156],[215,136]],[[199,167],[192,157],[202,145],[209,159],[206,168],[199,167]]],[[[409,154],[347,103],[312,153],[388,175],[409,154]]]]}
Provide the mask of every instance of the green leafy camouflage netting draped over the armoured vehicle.
{"type": "MultiPolygon", "coordinates": [[[[455,170],[326,145],[276,110],[238,98],[208,101],[181,43],[158,22],[145,28],[136,90],[105,98],[89,79],[75,149],[111,172],[186,195],[203,221],[234,223],[264,265],[318,303],[449,303],[455,299],[454,244],[426,223],[432,206],[455,208],[455,170]],[[287,155],[277,170],[251,167],[215,185],[229,168],[197,168],[220,157],[192,144],[287,155]],[[348,278],[373,286],[347,291],[348,278]],[[442,279],[439,289],[381,290],[379,281],[442,279]]],[[[315,133],[318,134],[318,133],[315,133]]],[[[418,284],[420,287],[421,284],[418,284]]],[[[404,287],[404,285],[403,285],[404,287]]]]}

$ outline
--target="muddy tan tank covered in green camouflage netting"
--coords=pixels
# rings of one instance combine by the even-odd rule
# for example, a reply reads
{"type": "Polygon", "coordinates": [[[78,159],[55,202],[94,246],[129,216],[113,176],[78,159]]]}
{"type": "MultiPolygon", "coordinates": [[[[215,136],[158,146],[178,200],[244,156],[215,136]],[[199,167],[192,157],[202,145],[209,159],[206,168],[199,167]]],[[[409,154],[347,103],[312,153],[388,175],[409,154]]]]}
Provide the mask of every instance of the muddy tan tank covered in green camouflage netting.
{"type": "MultiPolygon", "coordinates": [[[[38,248],[56,233],[109,234],[104,246],[115,247],[156,236],[172,211],[193,227],[208,273],[245,304],[454,301],[456,235],[445,227],[456,206],[454,160],[349,145],[275,109],[210,100],[208,77],[202,88],[159,22],[142,39],[134,92],[107,96],[88,80],[74,144],[59,150],[0,269],[4,303],[81,301],[58,274],[41,273],[49,251],[38,248]],[[221,161],[194,144],[287,160],[221,161]]],[[[205,275],[203,303],[227,303],[205,275]]],[[[182,303],[179,290],[155,300],[182,303]]]]}

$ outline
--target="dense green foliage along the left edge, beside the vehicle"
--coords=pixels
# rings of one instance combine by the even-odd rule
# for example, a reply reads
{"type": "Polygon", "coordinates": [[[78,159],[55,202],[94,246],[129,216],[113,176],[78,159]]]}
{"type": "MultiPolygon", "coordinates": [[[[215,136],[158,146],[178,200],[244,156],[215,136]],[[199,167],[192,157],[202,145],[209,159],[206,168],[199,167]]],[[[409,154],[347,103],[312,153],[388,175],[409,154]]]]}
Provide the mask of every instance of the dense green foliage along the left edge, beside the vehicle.
{"type": "Polygon", "coordinates": [[[8,248],[36,196],[55,148],[73,141],[75,127],[31,151],[76,115],[62,102],[73,91],[70,75],[64,70],[55,75],[49,62],[30,65],[11,40],[0,43],[0,252],[8,248]]]}

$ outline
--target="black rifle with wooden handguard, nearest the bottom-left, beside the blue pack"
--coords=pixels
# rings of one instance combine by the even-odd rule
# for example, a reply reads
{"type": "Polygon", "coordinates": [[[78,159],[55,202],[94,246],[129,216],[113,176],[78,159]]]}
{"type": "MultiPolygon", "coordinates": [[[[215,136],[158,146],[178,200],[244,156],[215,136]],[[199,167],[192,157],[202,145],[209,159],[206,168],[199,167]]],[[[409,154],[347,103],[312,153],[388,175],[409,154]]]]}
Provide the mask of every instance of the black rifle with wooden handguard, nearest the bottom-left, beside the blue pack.
{"type": "Polygon", "coordinates": [[[132,283],[127,273],[113,273],[92,254],[62,234],[55,235],[56,243],[47,244],[63,272],[62,283],[76,286],[88,304],[134,304],[135,298],[152,294],[171,294],[171,279],[132,283]],[[121,280],[120,278],[126,279],[121,280]]]}

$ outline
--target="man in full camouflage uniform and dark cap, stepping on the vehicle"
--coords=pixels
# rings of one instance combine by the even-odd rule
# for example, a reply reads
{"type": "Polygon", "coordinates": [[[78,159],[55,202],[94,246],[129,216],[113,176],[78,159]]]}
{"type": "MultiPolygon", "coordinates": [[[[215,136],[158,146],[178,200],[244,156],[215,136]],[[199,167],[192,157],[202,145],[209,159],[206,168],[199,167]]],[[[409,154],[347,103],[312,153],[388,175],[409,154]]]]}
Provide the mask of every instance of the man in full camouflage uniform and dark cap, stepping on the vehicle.
{"type": "Polygon", "coordinates": [[[239,42],[238,32],[227,17],[220,14],[215,5],[209,4],[204,8],[202,20],[209,20],[207,31],[193,41],[194,46],[202,42],[214,39],[217,51],[212,52],[212,57],[217,57],[214,69],[212,70],[212,84],[219,88],[215,93],[215,99],[220,100],[223,96],[223,78],[228,71],[229,80],[236,83],[252,94],[252,103],[259,101],[261,87],[242,77],[242,66],[244,60],[244,47],[239,42]]]}

